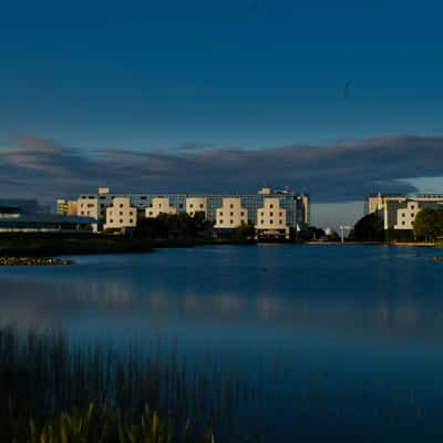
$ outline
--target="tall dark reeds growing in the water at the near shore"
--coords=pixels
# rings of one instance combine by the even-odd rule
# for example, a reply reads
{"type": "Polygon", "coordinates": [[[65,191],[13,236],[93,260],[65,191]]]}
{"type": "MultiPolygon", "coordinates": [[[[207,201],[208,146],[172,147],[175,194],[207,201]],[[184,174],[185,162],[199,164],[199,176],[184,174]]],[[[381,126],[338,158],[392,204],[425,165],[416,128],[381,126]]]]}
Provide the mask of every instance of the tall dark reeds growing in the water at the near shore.
{"type": "Polygon", "coordinates": [[[0,328],[0,441],[230,441],[234,404],[256,402],[254,391],[215,364],[178,360],[159,347],[117,351],[0,328]]]}

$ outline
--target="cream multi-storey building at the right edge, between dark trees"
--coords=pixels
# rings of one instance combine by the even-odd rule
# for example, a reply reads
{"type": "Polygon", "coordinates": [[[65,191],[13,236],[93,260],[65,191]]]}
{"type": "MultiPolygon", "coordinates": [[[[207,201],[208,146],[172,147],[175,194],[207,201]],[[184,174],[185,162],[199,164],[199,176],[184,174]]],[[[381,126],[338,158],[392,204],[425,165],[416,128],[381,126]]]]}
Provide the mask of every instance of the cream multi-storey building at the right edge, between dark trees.
{"type": "Polygon", "coordinates": [[[380,215],[384,230],[412,230],[416,215],[424,207],[443,208],[443,195],[371,195],[367,212],[380,215]]]}

